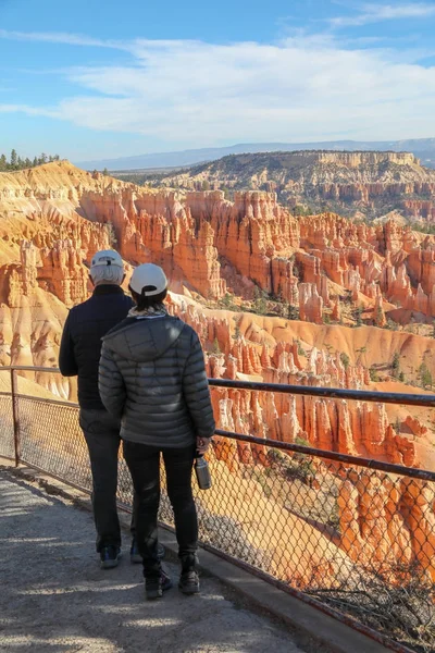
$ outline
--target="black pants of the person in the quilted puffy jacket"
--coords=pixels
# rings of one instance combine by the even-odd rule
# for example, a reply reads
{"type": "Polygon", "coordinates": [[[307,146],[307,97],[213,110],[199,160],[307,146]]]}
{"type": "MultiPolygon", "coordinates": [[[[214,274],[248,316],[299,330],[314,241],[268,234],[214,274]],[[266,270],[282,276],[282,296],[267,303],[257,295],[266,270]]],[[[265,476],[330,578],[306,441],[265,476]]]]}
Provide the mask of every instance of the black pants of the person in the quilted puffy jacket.
{"type": "Polygon", "coordinates": [[[195,447],[160,449],[124,441],[124,458],[137,494],[136,537],[144,558],[144,575],[160,574],[157,556],[157,517],[160,501],[160,453],[166,470],[167,494],[174,510],[178,556],[195,555],[198,547],[198,519],[191,493],[195,447]]]}

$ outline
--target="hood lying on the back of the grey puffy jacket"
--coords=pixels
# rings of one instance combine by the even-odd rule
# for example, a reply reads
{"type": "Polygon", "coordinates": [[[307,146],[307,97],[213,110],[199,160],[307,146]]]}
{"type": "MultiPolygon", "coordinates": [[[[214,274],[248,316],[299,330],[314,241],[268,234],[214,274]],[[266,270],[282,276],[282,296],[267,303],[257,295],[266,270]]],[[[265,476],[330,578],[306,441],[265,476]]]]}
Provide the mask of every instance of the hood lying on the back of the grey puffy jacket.
{"type": "Polygon", "coordinates": [[[103,338],[105,346],[136,362],[156,360],[178,340],[185,323],[178,318],[127,318],[103,338]]]}

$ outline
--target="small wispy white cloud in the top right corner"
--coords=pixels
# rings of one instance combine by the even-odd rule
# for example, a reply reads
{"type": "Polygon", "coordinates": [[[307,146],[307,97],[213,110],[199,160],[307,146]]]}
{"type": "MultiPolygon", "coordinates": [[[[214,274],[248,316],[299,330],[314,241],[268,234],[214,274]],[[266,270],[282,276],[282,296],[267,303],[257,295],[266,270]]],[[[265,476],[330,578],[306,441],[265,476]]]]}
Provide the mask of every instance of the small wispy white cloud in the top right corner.
{"type": "Polygon", "coordinates": [[[356,16],[337,16],[330,19],[333,27],[350,27],[368,25],[381,21],[399,19],[425,19],[435,15],[435,4],[427,2],[410,2],[408,4],[364,4],[362,13],[356,16]]]}

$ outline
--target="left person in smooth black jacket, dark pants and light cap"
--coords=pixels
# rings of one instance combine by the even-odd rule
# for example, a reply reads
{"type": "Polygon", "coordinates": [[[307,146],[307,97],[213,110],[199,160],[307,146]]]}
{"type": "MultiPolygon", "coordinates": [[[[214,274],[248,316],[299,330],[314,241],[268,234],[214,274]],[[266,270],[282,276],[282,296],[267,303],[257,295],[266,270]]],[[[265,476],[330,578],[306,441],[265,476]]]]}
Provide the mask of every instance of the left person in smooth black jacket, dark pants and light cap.
{"type": "MultiPolygon", "coordinates": [[[[121,556],[121,530],[116,510],[120,421],[109,415],[98,392],[101,338],[121,322],[133,300],[124,294],[124,266],[117,251],[98,251],[91,261],[92,296],[71,309],[66,319],[59,367],[64,377],[78,377],[79,422],[89,449],[92,472],[92,507],[97,551],[101,567],[116,567],[121,556]]],[[[134,537],[132,562],[141,562],[134,537]]]]}

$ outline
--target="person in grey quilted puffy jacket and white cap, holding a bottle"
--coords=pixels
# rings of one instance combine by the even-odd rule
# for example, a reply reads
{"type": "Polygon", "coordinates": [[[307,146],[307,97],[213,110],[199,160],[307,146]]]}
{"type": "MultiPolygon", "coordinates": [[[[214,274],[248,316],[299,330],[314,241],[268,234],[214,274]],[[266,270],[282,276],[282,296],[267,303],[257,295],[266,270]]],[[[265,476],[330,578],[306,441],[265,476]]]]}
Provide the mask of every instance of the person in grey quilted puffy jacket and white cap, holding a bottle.
{"type": "Polygon", "coordinates": [[[124,457],[138,495],[137,540],[147,599],[172,587],[158,557],[160,454],[174,510],[185,594],[199,592],[197,512],[191,492],[196,452],[214,433],[213,410],[198,334],[165,307],[166,276],[152,263],[138,266],[129,291],[136,307],[103,337],[99,391],[121,418],[124,457]]]}

